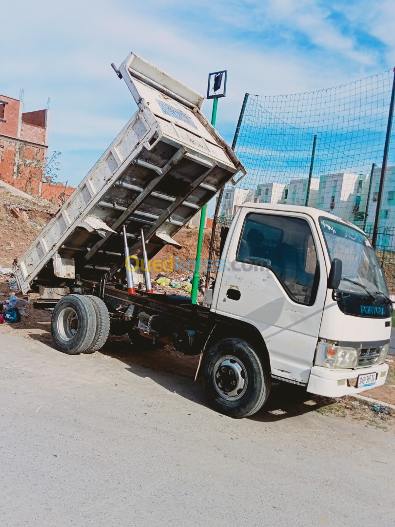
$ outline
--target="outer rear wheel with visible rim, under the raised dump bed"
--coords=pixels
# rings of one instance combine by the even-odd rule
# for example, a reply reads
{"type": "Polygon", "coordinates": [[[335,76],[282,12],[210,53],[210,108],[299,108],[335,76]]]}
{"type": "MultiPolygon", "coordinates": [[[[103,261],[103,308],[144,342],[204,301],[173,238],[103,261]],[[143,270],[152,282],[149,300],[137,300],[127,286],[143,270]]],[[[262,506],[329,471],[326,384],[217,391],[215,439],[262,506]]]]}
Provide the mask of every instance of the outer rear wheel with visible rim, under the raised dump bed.
{"type": "Polygon", "coordinates": [[[92,302],[82,295],[66,295],[52,312],[52,338],[61,352],[77,355],[91,346],[96,331],[92,302]]]}

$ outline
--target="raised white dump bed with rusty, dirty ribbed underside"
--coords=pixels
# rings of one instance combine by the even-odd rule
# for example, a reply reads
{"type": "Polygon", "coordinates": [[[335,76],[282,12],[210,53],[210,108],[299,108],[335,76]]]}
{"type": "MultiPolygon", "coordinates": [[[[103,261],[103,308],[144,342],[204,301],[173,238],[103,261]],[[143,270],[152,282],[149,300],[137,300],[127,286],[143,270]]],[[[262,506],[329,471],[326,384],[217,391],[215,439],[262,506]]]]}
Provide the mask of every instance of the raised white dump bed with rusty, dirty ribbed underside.
{"type": "MultiPolygon", "coordinates": [[[[245,171],[201,113],[204,97],[131,53],[118,74],[139,110],[19,258],[15,276],[37,286],[110,279],[143,228],[152,258],[223,185],[245,171]]],[[[240,179],[240,178],[239,178],[240,179]]],[[[122,270],[121,270],[122,272],[122,270]]]]}

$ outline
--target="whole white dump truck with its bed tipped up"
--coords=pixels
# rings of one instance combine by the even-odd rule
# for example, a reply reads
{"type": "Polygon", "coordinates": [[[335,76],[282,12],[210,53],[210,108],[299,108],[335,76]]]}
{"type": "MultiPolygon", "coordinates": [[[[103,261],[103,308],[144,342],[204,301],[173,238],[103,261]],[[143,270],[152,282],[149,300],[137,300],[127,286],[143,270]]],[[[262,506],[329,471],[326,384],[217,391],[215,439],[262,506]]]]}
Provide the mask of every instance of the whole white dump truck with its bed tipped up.
{"type": "Polygon", "coordinates": [[[139,110],[15,267],[35,307],[54,308],[56,347],[92,353],[110,333],[172,343],[200,355],[196,377],[232,417],[257,412],[272,379],[330,397],[384,384],[386,282],[364,233],[331,214],[244,203],[203,306],[152,291],[148,260],[244,169],[199,93],[135,54],[115,70],[139,110]]]}

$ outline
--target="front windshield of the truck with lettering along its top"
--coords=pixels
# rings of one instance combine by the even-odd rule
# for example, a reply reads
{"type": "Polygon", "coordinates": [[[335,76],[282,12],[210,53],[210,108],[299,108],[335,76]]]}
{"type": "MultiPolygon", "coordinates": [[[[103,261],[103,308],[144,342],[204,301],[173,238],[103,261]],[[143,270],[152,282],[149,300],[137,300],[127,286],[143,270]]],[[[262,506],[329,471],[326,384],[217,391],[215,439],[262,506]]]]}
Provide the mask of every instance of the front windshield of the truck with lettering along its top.
{"type": "Polygon", "coordinates": [[[343,262],[344,280],[340,288],[360,293],[361,284],[370,293],[388,296],[382,269],[368,238],[362,232],[328,218],[320,218],[320,225],[331,260],[340,258],[343,262]]]}

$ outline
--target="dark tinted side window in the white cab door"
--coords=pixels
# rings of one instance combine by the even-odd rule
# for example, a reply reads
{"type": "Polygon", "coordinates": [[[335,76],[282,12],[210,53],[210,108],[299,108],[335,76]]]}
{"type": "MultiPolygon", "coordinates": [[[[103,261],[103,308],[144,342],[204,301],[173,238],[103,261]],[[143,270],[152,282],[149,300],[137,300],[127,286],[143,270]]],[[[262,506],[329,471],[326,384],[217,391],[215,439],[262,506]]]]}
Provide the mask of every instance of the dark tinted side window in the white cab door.
{"type": "Polygon", "coordinates": [[[236,260],[268,267],[295,302],[311,305],[318,283],[317,251],[307,221],[250,213],[236,260]]]}

